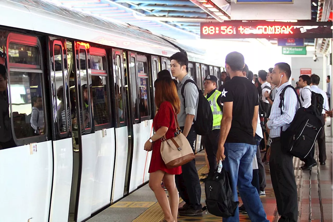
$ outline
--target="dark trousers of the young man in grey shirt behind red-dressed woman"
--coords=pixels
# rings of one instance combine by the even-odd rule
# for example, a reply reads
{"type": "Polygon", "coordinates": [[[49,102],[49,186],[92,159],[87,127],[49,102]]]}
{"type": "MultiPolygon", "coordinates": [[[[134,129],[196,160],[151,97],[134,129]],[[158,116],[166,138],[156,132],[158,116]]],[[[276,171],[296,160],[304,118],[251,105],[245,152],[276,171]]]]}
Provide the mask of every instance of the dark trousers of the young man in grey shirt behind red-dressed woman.
{"type": "MultiPolygon", "coordinates": [[[[181,130],[184,127],[180,127],[181,130]]],[[[187,140],[190,143],[192,149],[194,149],[194,141],[196,140],[196,133],[192,126],[188,135],[187,140]]],[[[201,186],[199,181],[199,175],[195,168],[195,159],[181,166],[182,173],[175,175],[176,187],[179,195],[183,201],[190,205],[195,210],[202,208],[200,203],[201,198],[201,186]]]]}

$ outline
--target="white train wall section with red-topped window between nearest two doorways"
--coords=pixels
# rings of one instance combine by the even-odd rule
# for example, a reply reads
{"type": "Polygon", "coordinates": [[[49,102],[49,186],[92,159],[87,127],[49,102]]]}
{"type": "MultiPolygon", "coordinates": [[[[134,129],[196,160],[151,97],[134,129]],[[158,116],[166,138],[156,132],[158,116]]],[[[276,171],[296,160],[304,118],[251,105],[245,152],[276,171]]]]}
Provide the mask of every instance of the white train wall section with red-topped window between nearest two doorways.
{"type": "Polygon", "coordinates": [[[93,122],[95,126],[96,144],[94,189],[91,190],[93,198],[91,213],[110,204],[112,179],[115,162],[115,129],[111,120],[109,69],[105,49],[90,47],[89,58],[91,64],[91,91],[93,122]]]}

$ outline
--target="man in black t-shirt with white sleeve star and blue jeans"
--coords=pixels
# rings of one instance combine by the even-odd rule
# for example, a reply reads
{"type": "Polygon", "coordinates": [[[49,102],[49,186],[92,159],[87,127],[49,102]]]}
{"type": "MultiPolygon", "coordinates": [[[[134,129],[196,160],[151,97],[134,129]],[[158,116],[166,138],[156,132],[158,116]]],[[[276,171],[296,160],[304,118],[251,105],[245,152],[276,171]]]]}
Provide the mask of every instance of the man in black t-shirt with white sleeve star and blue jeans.
{"type": "MultiPolygon", "coordinates": [[[[238,187],[250,220],[268,222],[257,189],[251,184],[259,100],[256,87],[243,76],[244,66],[244,57],[239,52],[231,52],[225,58],[231,80],[222,89],[223,116],[216,157],[224,160],[223,167],[230,173],[234,201],[238,201],[238,187]]],[[[238,222],[238,208],[233,217],[223,221],[238,222]]]]}

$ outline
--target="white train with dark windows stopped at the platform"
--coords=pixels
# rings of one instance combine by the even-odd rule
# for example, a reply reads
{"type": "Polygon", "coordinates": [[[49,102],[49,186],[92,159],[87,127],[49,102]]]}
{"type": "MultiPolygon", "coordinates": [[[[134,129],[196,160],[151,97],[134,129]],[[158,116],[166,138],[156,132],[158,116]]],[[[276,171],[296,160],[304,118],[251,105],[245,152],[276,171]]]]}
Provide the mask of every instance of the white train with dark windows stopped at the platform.
{"type": "Polygon", "coordinates": [[[158,72],[179,51],[200,89],[223,70],[202,49],[51,2],[0,8],[0,221],[86,221],[147,184],[158,72]]]}

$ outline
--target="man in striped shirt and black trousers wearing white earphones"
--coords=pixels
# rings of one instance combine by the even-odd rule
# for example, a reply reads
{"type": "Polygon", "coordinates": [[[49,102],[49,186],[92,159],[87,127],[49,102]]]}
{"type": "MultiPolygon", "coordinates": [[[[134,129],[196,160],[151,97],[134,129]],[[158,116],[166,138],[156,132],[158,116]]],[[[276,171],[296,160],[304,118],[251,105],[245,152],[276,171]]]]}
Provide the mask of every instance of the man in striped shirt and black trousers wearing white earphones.
{"type": "Polygon", "coordinates": [[[290,66],[287,63],[275,64],[271,80],[277,86],[276,97],[272,105],[271,113],[267,121],[267,129],[271,138],[271,146],[267,150],[269,169],[273,190],[276,198],[276,205],[279,215],[279,222],[297,222],[297,188],[294,175],[293,157],[281,150],[280,133],[285,131],[293,120],[299,108],[297,95],[292,88],[287,88],[284,93],[284,104],[281,109],[280,94],[284,87],[290,85],[290,66]]]}

